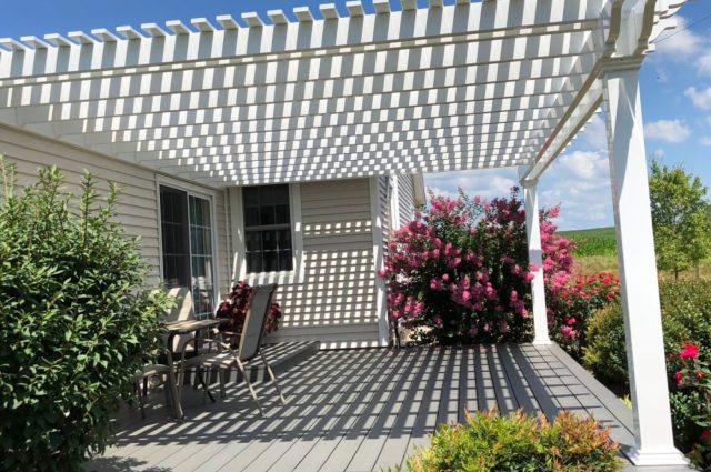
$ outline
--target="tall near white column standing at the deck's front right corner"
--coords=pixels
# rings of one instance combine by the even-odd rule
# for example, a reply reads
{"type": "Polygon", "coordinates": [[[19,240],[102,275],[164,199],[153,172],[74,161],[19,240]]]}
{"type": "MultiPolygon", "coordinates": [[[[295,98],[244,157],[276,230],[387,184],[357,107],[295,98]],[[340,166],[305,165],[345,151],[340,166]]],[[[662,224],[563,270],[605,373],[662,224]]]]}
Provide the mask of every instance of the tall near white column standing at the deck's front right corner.
{"type": "Polygon", "coordinates": [[[639,91],[639,63],[602,74],[637,465],[680,465],[674,448],[639,91]]]}

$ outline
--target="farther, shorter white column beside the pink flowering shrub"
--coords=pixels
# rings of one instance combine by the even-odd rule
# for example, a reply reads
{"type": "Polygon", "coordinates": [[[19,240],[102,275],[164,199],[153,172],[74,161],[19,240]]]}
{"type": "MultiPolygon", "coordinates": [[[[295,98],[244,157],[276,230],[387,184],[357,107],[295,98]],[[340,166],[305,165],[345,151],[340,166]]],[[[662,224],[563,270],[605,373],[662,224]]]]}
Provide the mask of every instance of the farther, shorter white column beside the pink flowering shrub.
{"type": "Polygon", "coordinates": [[[523,204],[525,209],[525,234],[528,237],[529,262],[535,264],[531,281],[533,304],[533,344],[550,344],[548,334],[548,313],[545,310],[545,288],[543,285],[543,251],[541,249],[541,227],[538,211],[537,181],[522,181],[523,204]]]}

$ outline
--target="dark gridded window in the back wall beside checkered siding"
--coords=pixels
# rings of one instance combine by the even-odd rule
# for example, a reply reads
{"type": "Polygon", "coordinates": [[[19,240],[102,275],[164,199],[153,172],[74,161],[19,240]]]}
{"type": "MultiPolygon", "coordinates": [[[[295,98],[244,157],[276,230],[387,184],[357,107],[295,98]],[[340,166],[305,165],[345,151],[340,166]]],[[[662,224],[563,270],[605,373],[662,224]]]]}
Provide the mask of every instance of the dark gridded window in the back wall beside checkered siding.
{"type": "Polygon", "coordinates": [[[242,202],[247,272],[291,271],[289,185],[246,187],[242,202]]]}

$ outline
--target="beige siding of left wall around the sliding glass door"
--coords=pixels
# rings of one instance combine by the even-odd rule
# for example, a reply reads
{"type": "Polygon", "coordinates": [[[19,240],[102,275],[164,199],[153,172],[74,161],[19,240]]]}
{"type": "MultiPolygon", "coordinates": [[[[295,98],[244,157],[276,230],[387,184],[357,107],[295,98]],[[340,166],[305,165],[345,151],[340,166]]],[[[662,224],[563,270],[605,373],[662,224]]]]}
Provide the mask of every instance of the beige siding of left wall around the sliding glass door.
{"type": "MultiPolygon", "coordinates": [[[[122,189],[117,205],[118,220],[128,235],[141,237],[141,254],[151,268],[147,283],[154,284],[159,281],[159,177],[156,172],[3,124],[0,124],[0,153],[4,153],[10,162],[17,164],[20,187],[34,182],[39,168],[52,164],[62,171],[67,188],[72,192],[79,190],[84,170],[97,178],[100,192],[108,192],[108,181],[118,183],[122,189]]],[[[224,192],[201,189],[214,192],[217,270],[220,291],[223,293],[229,281],[224,192]]]]}

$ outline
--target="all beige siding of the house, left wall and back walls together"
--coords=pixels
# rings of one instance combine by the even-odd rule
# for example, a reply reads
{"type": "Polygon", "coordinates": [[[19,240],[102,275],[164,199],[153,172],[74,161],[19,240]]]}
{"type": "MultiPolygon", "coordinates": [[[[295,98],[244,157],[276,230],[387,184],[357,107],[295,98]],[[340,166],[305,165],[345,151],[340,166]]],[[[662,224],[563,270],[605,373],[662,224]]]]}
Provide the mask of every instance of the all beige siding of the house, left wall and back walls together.
{"type": "MultiPolygon", "coordinates": [[[[84,169],[97,178],[100,191],[108,191],[109,180],[119,183],[123,189],[119,221],[128,235],[141,237],[141,253],[152,269],[149,284],[158,282],[160,274],[158,182],[211,193],[220,292],[227,293],[231,281],[239,278],[231,272],[243,245],[232,220],[241,218],[241,212],[230,197],[239,189],[222,191],[176,182],[151,170],[7,125],[0,125],[0,153],[17,164],[20,185],[33,182],[38,168],[51,164],[63,172],[70,190],[79,189],[84,169]]],[[[395,191],[401,192],[397,218],[411,214],[411,177],[378,177],[294,184],[303,261],[298,278],[279,281],[277,300],[284,319],[273,341],[319,340],[324,348],[382,343],[384,292],[375,275],[377,258],[394,228],[391,199],[395,191]],[[398,179],[394,187],[393,179],[398,179]]]]}

